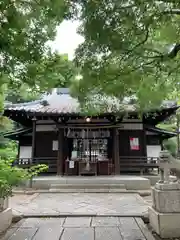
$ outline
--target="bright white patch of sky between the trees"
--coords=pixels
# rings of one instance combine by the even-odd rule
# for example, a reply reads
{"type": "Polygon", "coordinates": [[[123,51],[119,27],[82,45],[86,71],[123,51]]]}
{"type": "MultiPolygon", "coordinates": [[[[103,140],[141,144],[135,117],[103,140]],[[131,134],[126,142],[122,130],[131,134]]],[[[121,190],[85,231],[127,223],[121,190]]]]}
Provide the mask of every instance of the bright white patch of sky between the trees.
{"type": "Polygon", "coordinates": [[[67,53],[69,59],[72,60],[75,49],[84,41],[83,37],[76,32],[79,24],[78,21],[63,21],[57,27],[55,41],[50,43],[52,50],[57,50],[60,54],[67,53]]]}

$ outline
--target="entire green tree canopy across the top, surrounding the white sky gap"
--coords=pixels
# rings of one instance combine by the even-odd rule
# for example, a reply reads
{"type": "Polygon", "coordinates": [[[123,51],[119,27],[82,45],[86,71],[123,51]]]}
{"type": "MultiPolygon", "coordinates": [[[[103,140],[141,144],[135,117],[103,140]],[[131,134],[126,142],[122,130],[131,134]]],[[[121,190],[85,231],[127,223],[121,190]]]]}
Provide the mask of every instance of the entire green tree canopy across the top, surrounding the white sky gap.
{"type": "Polygon", "coordinates": [[[74,89],[81,100],[93,91],[133,96],[145,107],[179,91],[178,1],[5,0],[0,16],[0,102],[7,82],[36,90],[70,83],[74,65],[47,47],[67,18],[81,22],[85,39],[75,59],[82,78],[74,89]]]}

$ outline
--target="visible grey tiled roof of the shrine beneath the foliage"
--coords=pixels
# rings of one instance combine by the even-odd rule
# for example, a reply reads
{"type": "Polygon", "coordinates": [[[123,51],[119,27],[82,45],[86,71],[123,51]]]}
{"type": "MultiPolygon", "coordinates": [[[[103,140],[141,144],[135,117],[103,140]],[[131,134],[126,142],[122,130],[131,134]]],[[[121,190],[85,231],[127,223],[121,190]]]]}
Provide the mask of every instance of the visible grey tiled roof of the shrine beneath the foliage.
{"type": "MultiPolygon", "coordinates": [[[[91,98],[90,106],[95,107],[97,110],[103,112],[112,113],[117,111],[127,111],[132,112],[136,110],[136,106],[129,104],[127,100],[123,103],[117,98],[107,97],[107,96],[96,96],[91,98]]],[[[164,102],[163,107],[171,108],[175,107],[175,102],[164,102]]],[[[25,111],[25,112],[35,112],[35,113],[58,113],[58,114],[78,114],[81,112],[80,104],[76,98],[73,98],[68,89],[56,89],[51,94],[45,94],[40,100],[18,103],[18,104],[5,104],[5,111],[25,111]]]]}

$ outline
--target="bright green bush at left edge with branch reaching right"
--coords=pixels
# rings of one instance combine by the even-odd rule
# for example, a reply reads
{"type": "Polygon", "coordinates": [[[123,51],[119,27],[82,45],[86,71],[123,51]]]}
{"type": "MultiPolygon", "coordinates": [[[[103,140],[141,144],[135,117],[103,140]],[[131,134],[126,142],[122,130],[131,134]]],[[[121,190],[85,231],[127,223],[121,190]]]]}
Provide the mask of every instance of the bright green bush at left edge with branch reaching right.
{"type": "Polygon", "coordinates": [[[12,167],[12,161],[0,160],[0,198],[12,195],[13,186],[18,186],[23,180],[31,179],[48,167],[44,164],[33,166],[29,169],[12,167]]]}

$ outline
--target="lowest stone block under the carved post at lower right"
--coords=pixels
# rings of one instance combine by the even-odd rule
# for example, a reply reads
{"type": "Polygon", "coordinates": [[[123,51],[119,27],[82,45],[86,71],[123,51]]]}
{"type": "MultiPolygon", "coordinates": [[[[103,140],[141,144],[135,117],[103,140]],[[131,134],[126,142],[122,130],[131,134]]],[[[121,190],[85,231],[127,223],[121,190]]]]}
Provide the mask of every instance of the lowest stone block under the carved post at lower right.
{"type": "Polygon", "coordinates": [[[149,207],[149,222],[161,238],[180,237],[180,213],[159,213],[149,207]]]}

